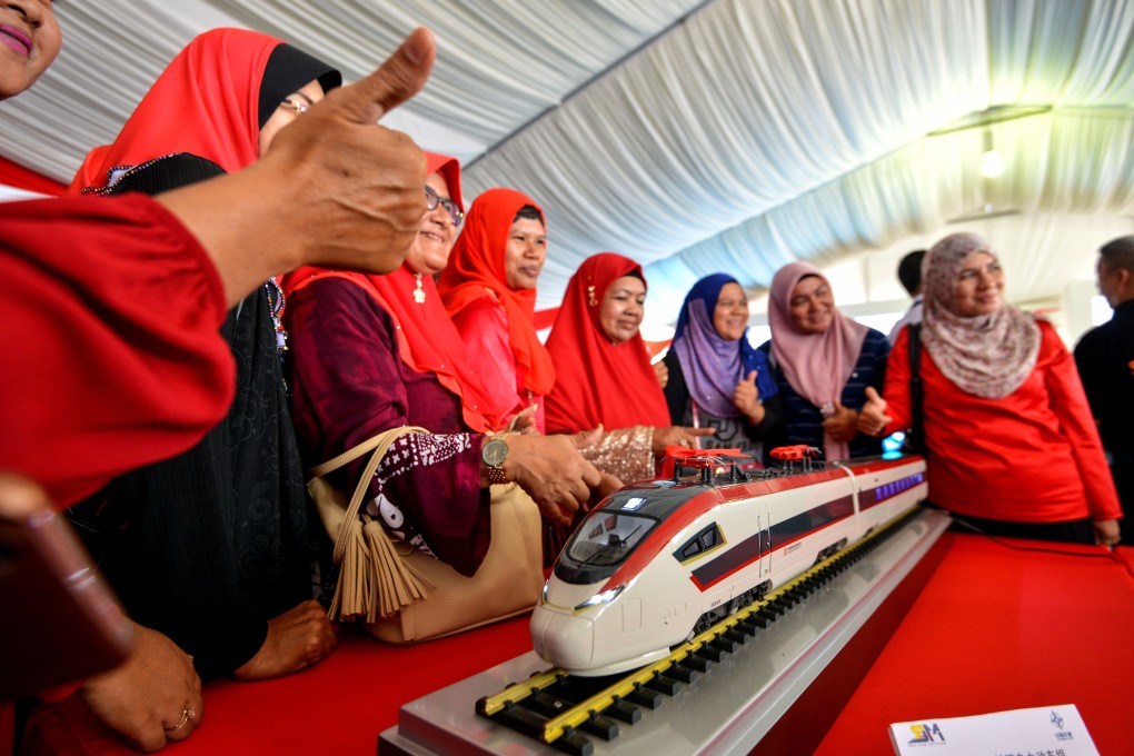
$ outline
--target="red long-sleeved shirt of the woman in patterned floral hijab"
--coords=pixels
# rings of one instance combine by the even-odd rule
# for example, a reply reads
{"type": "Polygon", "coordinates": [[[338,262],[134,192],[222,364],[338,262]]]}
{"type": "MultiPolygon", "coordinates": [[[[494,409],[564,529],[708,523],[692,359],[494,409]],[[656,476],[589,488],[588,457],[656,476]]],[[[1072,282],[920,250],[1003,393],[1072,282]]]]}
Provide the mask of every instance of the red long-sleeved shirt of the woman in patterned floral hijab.
{"type": "MultiPolygon", "coordinates": [[[[929,495],[958,515],[1018,523],[1122,517],[1075,362],[1039,321],[1035,367],[1002,399],[965,393],[921,350],[929,495]]],[[[890,428],[909,426],[909,333],[886,368],[890,428]]]]}

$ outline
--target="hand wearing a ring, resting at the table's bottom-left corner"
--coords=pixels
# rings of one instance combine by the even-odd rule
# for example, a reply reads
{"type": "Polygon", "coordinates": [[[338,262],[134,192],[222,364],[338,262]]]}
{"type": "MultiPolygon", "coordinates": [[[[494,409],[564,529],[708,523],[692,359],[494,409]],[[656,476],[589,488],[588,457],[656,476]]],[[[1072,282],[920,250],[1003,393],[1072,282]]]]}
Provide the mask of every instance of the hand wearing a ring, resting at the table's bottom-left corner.
{"type": "Polygon", "coordinates": [[[145,751],[188,738],[204,716],[192,657],[162,634],[136,623],[129,657],[87,678],[79,695],[95,716],[145,751]],[[193,716],[178,727],[186,710],[193,716]]]}

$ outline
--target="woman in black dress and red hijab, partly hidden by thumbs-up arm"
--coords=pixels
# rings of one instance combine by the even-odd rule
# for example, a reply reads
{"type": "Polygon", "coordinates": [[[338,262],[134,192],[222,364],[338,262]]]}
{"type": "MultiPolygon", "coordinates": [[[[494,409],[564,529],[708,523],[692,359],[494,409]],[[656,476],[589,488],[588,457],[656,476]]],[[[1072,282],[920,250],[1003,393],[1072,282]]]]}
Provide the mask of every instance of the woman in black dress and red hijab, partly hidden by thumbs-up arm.
{"type": "MultiPolygon", "coordinates": [[[[170,62],[113,144],[91,152],[71,190],[155,194],[240,170],[339,83],[338,71],[274,37],[202,34],[170,62]]],[[[215,428],[69,512],[101,538],[87,543],[130,614],[192,654],[205,678],[288,674],[336,644],[312,601],[303,468],[280,364],[281,307],[269,281],[229,312],[221,333],[237,364],[236,399],[215,428]]]]}

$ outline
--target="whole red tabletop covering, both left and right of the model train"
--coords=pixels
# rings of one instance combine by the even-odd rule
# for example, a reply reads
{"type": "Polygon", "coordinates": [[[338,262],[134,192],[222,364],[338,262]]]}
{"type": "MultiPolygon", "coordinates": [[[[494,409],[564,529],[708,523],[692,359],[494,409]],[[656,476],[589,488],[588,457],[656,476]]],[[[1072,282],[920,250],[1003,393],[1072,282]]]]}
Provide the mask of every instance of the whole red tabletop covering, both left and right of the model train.
{"type": "MultiPolygon", "coordinates": [[[[1131,753],[1134,550],[1123,563],[1101,549],[1021,551],[978,536],[947,547],[818,753],[892,753],[891,722],[1049,704],[1078,706],[1102,754],[1131,753]]],[[[204,721],[164,753],[371,755],[404,703],[530,649],[526,618],[418,646],[344,632],[298,674],[209,683],[204,721]]],[[[134,753],[74,697],[34,721],[31,753],[134,753]]]]}

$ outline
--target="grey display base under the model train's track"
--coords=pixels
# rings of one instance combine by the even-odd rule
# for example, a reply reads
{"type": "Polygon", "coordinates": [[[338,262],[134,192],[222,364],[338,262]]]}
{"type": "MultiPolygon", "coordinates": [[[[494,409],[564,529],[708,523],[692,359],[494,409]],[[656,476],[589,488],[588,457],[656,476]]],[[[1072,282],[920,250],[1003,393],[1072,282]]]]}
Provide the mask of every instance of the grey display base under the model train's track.
{"type": "MultiPolygon", "coordinates": [[[[586,736],[593,753],[717,756],[752,751],[902,585],[950,521],[937,510],[922,512],[739,651],[683,686],[678,695],[666,697],[654,711],[643,710],[640,722],[620,723],[613,740],[586,736]]],[[[531,652],[406,704],[398,724],[381,734],[379,754],[561,753],[475,712],[480,698],[548,668],[531,652]]],[[[826,732],[837,713],[816,712],[815,727],[826,721],[826,732]]],[[[813,736],[809,733],[805,740],[812,742],[813,736]]]]}

